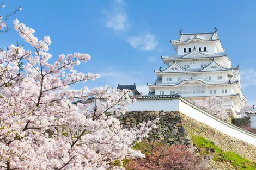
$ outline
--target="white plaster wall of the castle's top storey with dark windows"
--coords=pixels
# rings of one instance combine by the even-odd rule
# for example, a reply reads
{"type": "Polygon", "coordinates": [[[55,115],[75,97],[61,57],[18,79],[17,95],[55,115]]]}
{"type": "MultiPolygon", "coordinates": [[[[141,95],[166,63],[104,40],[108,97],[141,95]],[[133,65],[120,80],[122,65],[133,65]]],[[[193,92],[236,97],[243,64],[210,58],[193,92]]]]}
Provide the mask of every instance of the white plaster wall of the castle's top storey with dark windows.
{"type": "Polygon", "coordinates": [[[191,51],[192,51],[194,49],[194,46],[196,46],[197,51],[199,51],[199,47],[201,47],[202,51],[204,50],[204,47],[206,47],[207,52],[202,52],[205,54],[216,53],[215,42],[200,42],[198,40],[197,41],[192,40],[187,44],[178,45],[177,53],[178,55],[184,55],[186,54],[183,51],[184,48],[191,48],[191,51]]]}

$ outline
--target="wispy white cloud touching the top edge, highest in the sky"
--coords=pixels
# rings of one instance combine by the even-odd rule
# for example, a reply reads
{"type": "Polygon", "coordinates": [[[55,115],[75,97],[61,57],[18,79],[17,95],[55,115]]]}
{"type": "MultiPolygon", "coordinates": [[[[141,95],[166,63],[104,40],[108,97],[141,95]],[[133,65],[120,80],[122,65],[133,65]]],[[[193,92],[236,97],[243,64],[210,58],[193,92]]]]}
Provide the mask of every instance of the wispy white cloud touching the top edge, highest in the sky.
{"type": "Polygon", "coordinates": [[[105,26],[114,30],[126,32],[131,28],[131,24],[127,20],[125,11],[125,3],[123,0],[116,0],[112,4],[112,8],[104,11],[107,20],[105,26]]]}

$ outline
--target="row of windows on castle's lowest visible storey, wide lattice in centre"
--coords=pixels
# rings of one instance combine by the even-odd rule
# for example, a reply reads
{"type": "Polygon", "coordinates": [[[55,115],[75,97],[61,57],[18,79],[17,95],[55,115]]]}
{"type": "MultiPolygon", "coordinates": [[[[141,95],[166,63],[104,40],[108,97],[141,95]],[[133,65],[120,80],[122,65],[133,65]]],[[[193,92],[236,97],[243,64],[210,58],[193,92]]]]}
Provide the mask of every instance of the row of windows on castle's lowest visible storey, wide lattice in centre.
{"type": "MultiPolygon", "coordinates": [[[[206,87],[204,86],[185,86],[184,89],[179,89],[180,95],[206,94],[206,87]]],[[[222,94],[227,94],[227,89],[222,89],[222,94]]],[[[170,91],[170,95],[175,95],[176,91],[170,91]]],[[[216,90],[210,90],[211,95],[216,95],[216,90]]],[[[164,95],[164,91],[160,91],[159,95],[164,95]]]]}

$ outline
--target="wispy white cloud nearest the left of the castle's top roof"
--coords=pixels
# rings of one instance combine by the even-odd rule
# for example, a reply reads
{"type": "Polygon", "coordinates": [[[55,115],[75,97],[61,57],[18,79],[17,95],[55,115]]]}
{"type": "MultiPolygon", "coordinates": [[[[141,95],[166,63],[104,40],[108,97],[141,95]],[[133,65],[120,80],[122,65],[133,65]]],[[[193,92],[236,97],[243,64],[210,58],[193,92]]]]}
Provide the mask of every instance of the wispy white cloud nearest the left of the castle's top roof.
{"type": "Polygon", "coordinates": [[[150,32],[144,35],[128,37],[127,42],[129,42],[133,48],[141,51],[151,51],[158,45],[156,37],[150,32]]]}

